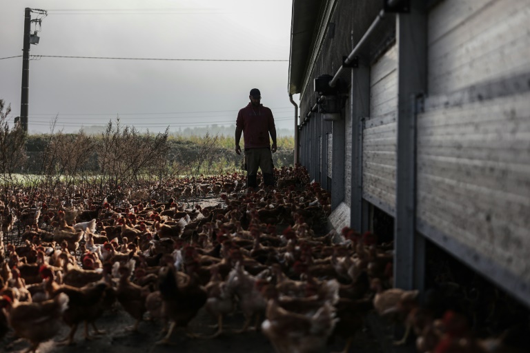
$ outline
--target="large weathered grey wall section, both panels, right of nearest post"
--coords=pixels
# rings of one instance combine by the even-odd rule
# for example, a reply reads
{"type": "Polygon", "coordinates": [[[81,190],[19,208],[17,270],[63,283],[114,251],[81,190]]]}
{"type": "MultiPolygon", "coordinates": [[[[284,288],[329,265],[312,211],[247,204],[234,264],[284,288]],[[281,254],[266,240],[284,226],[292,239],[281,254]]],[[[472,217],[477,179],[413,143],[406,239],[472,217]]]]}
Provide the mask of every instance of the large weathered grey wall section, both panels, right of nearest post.
{"type": "Polygon", "coordinates": [[[420,231],[476,252],[464,261],[519,295],[530,283],[529,33],[530,1],[439,3],[418,116],[420,231]]]}

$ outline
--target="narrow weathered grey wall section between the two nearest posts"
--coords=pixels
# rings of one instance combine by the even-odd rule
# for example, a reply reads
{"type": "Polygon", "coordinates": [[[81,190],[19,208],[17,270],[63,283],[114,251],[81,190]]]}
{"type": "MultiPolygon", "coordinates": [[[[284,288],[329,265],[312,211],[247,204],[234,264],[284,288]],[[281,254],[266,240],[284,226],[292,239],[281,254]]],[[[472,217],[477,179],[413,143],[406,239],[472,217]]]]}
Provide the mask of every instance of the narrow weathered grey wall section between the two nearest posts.
{"type": "Polygon", "coordinates": [[[392,46],[370,74],[370,117],[362,143],[363,197],[390,214],[395,212],[397,48],[392,46]]]}

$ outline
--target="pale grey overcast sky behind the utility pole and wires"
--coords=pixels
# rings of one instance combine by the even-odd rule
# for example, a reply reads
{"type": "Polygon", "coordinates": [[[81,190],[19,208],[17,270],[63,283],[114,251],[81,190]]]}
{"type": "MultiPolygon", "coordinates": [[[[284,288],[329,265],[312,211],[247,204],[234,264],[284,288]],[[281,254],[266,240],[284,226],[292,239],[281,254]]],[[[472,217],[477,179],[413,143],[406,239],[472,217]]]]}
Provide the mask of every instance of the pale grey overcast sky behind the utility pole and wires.
{"type": "MultiPolygon", "coordinates": [[[[289,0],[0,0],[0,58],[22,54],[29,7],[48,11],[30,55],[215,60],[32,59],[30,134],[49,132],[56,116],[57,128],[65,132],[106,125],[118,116],[154,132],[168,125],[170,131],[229,125],[254,87],[273,110],[277,128],[293,130],[287,90],[291,5],[289,0]]],[[[11,104],[13,119],[20,114],[22,58],[0,59],[0,72],[0,99],[11,104]]]]}

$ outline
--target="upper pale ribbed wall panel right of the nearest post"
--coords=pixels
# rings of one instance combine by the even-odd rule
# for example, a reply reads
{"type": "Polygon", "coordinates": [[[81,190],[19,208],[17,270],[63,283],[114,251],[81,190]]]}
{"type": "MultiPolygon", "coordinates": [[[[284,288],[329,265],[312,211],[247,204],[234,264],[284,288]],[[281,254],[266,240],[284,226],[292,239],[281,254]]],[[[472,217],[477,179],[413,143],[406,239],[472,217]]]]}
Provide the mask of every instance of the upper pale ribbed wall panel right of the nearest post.
{"type": "Polygon", "coordinates": [[[527,0],[446,0],[433,8],[429,95],[528,72],[529,6],[527,0]]]}

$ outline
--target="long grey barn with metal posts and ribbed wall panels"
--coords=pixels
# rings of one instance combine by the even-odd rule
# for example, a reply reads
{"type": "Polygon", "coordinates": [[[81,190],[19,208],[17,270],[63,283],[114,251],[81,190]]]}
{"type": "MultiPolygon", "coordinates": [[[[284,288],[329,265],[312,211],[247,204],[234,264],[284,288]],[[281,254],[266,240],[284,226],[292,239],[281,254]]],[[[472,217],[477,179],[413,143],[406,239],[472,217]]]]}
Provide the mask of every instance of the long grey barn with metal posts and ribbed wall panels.
{"type": "Polygon", "coordinates": [[[530,306],[530,1],[293,0],[297,156],[329,221],[429,248],[530,306]]]}

